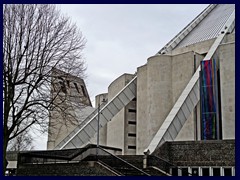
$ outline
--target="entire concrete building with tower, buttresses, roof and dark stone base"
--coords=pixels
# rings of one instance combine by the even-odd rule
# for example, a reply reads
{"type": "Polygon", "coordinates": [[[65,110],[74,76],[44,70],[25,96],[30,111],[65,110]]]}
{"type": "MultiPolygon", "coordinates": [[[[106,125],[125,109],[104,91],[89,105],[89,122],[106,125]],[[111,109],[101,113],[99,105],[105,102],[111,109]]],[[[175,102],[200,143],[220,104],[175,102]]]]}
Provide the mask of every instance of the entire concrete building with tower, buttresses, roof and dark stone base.
{"type": "Polygon", "coordinates": [[[96,108],[81,78],[53,69],[48,151],[8,153],[9,175],[234,176],[234,13],[233,4],[209,5],[97,95],[96,108]],[[198,67],[213,59],[218,136],[204,139],[198,67]]]}

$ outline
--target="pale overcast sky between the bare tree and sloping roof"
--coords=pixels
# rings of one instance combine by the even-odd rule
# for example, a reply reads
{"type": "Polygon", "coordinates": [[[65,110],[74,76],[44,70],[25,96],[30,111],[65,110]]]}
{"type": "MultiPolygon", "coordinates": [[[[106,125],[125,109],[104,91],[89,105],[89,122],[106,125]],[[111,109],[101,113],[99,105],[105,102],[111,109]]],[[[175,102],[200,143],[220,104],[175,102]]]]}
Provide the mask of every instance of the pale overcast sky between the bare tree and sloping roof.
{"type": "MultiPolygon", "coordinates": [[[[88,93],[94,98],[124,73],[155,55],[207,4],[61,4],[58,8],[76,23],[87,39],[88,93]]],[[[47,135],[36,139],[35,149],[46,149],[47,135]],[[37,140],[38,139],[38,140],[37,140]]]]}

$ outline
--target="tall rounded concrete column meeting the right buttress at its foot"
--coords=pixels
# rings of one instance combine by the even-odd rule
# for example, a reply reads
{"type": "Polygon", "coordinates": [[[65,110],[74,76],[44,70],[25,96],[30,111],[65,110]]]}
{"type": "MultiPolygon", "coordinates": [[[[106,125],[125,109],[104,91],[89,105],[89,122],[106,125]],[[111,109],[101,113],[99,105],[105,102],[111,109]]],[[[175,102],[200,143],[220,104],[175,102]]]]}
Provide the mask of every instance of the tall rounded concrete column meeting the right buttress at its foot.
{"type": "MultiPolygon", "coordinates": [[[[148,144],[157,133],[172,108],[172,57],[153,56],[147,63],[148,144]]],[[[145,146],[147,147],[146,144],[145,146]]],[[[144,147],[144,149],[146,148],[144,147]]]]}

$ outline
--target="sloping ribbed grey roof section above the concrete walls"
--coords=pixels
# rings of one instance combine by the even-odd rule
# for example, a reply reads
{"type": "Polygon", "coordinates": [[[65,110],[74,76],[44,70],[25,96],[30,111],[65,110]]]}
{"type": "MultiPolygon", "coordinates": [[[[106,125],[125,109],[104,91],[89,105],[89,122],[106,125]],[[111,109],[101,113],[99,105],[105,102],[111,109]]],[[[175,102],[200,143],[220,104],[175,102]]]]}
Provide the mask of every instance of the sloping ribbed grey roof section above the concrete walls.
{"type": "MultiPolygon", "coordinates": [[[[211,4],[171,39],[157,54],[216,38],[235,13],[235,4],[211,4]]],[[[228,32],[235,32],[235,20],[228,32]]]]}

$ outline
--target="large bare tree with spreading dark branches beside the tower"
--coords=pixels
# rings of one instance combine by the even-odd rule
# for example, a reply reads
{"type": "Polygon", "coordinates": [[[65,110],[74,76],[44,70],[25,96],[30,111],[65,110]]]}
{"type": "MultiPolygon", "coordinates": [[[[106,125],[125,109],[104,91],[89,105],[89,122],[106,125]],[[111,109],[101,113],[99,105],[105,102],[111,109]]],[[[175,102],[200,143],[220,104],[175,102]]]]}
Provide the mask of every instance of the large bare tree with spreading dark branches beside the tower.
{"type": "Polygon", "coordinates": [[[4,172],[10,140],[47,130],[52,69],[84,77],[85,39],[54,5],[3,5],[4,172]]]}

